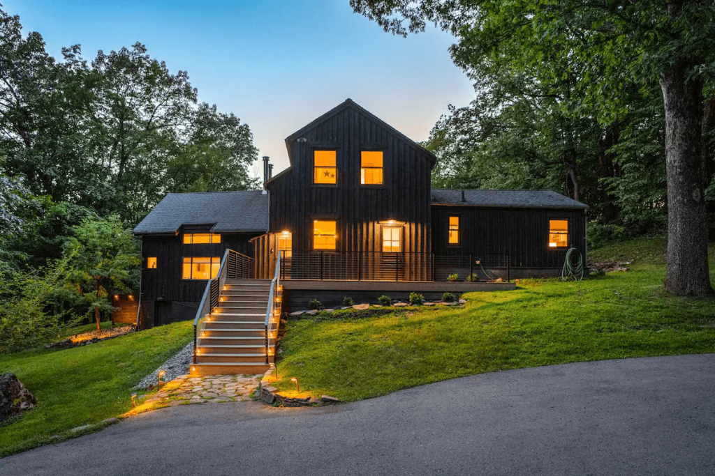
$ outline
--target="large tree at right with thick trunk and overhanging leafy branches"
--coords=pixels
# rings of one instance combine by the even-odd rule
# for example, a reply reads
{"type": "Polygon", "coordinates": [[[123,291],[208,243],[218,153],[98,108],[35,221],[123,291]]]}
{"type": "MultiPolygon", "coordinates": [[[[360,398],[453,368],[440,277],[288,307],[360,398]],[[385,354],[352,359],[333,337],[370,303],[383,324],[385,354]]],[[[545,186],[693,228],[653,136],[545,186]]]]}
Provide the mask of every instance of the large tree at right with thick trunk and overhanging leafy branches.
{"type": "Polygon", "coordinates": [[[538,79],[551,82],[570,76],[568,59],[578,60],[586,68],[576,78],[576,97],[598,108],[604,125],[627,113],[624,89],[657,81],[666,123],[665,289],[675,295],[713,292],[701,131],[704,84],[715,73],[711,1],[350,0],[350,5],[403,36],[435,22],[459,37],[452,54],[470,67],[506,47],[518,55],[516,61],[528,62],[538,79]]]}

